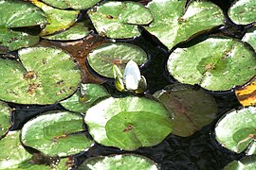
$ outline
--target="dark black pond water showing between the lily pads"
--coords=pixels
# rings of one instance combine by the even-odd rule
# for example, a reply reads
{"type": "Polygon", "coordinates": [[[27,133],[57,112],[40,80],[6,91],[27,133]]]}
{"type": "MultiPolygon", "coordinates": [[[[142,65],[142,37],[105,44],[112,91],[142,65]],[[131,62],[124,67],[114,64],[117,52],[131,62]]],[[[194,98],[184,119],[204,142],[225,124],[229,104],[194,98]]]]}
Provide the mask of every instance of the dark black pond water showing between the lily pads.
{"type": "MultiPolygon", "coordinates": [[[[211,0],[224,9],[227,13],[232,0],[211,0]]],[[[227,18],[227,26],[214,30],[211,34],[225,34],[230,37],[241,38],[245,33],[247,26],[235,26],[227,18]]],[[[208,35],[197,37],[191,42],[180,44],[191,45],[200,41],[208,35]]],[[[128,40],[126,42],[135,43],[142,47],[150,56],[150,60],[141,68],[141,73],[146,77],[149,84],[147,93],[155,93],[155,91],[164,88],[166,85],[175,83],[173,77],[169,76],[166,70],[166,60],[170,52],[164,45],[157,42],[154,37],[142,30],[142,36],[136,40],[128,40]]],[[[103,84],[110,93],[116,93],[113,83],[106,82],[103,84]]],[[[200,131],[191,137],[182,138],[175,135],[169,135],[161,144],[154,147],[140,148],[132,153],[144,155],[161,166],[162,169],[222,169],[229,161],[239,160],[244,154],[235,154],[223,148],[214,139],[213,127],[218,118],[227,110],[237,109],[240,106],[233,92],[210,93],[217,101],[219,107],[218,117],[207,127],[203,127],[200,131]]],[[[15,108],[12,112],[12,120],[14,129],[20,129],[30,118],[44,112],[46,110],[64,110],[59,104],[51,106],[24,106],[9,104],[15,108]]],[[[87,152],[75,156],[76,164],[79,165],[87,158],[109,155],[116,153],[127,153],[117,148],[104,147],[101,144],[95,144],[87,152]]],[[[131,152],[129,152],[131,153],[131,152]]]]}

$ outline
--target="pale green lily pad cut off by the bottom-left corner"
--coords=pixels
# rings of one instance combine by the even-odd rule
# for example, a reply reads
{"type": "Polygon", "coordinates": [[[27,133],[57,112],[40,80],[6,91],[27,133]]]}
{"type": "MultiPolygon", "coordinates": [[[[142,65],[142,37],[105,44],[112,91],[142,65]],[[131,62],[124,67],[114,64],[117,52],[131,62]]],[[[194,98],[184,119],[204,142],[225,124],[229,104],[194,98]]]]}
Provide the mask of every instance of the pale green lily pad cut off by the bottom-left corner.
{"type": "Polygon", "coordinates": [[[0,169],[15,169],[32,157],[20,143],[20,131],[9,131],[0,141],[0,169]]]}

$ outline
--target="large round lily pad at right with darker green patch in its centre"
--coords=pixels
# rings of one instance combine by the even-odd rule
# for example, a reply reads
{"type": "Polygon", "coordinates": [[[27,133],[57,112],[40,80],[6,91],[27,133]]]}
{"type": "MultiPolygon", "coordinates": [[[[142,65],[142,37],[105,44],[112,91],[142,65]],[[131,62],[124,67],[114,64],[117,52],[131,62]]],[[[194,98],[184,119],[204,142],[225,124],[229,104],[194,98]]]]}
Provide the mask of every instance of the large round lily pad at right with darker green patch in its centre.
{"type": "Polygon", "coordinates": [[[228,91],[256,75],[255,56],[243,42],[209,38],[188,48],[175,49],[167,67],[179,82],[198,84],[210,91],[228,91]]]}

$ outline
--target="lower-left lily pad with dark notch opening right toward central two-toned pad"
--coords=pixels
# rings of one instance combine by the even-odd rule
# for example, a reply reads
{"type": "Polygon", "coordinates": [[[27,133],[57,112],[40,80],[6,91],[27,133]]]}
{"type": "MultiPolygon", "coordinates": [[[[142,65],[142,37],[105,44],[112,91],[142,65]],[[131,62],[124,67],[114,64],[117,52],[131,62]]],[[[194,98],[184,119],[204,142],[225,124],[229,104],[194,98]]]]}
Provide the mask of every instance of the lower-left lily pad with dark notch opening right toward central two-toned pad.
{"type": "Polygon", "coordinates": [[[65,157],[78,154],[93,144],[84,133],[77,133],[82,130],[82,115],[48,111],[24,125],[21,141],[45,155],[65,157]]]}

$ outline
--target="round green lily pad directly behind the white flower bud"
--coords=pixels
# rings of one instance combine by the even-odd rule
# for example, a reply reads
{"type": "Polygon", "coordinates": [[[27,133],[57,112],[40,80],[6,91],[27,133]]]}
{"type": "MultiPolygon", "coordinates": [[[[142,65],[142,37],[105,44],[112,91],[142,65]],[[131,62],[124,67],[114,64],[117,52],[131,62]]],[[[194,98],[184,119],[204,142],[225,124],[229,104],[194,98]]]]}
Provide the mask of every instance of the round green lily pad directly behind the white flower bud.
{"type": "Polygon", "coordinates": [[[114,78],[113,65],[119,66],[123,73],[129,60],[134,60],[137,65],[143,64],[147,60],[144,50],[130,43],[105,43],[92,50],[87,61],[90,66],[101,76],[114,78]]]}

